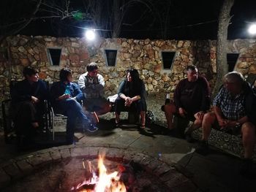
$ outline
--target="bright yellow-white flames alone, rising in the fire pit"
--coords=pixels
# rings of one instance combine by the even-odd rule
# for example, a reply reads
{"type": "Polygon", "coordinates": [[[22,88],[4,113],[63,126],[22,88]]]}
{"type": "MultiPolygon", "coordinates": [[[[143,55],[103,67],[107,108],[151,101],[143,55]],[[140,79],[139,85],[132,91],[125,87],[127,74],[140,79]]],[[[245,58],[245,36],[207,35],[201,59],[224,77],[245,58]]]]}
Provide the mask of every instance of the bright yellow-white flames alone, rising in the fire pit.
{"type": "MultiPolygon", "coordinates": [[[[94,189],[83,189],[83,192],[126,192],[127,189],[120,179],[120,173],[112,172],[107,173],[107,169],[103,163],[104,155],[99,155],[98,169],[99,177],[92,172],[90,180],[84,180],[83,183],[78,184],[76,189],[83,188],[83,185],[95,185],[94,189]]],[[[74,188],[72,188],[74,189],[74,188]]]]}

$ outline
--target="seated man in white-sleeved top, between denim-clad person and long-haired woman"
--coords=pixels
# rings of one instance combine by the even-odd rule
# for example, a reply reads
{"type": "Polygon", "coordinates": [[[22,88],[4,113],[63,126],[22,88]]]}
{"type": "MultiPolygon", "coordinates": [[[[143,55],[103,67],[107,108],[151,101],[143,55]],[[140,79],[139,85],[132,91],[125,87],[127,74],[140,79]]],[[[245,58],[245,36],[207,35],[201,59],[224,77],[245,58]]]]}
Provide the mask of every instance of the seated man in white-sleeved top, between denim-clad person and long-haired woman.
{"type": "Polygon", "coordinates": [[[85,97],[83,106],[86,108],[86,111],[96,112],[97,115],[110,112],[111,106],[104,97],[104,78],[101,74],[98,74],[97,64],[88,64],[86,69],[87,72],[81,74],[78,80],[78,85],[85,97]]]}

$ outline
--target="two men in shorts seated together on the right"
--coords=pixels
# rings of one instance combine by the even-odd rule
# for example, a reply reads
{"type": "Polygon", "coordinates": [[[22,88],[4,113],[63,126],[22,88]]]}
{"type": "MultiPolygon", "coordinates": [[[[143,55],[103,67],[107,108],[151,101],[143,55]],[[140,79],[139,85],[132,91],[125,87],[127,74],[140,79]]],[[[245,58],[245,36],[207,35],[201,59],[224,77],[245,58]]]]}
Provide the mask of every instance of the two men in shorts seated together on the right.
{"type": "Polygon", "coordinates": [[[209,153],[208,137],[211,128],[230,134],[241,134],[244,146],[244,164],[241,172],[252,172],[252,155],[255,147],[256,95],[249,82],[239,72],[229,72],[210,109],[210,88],[206,78],[198,76],[195,66],[187,66],[187,78],[178,82],[173,102],[165,104],[167,128],[173,131],[173,115],[190,120],[185,132],[192,142],[192,131],[202,127],[203,137],[197,153],[209,153]]]}

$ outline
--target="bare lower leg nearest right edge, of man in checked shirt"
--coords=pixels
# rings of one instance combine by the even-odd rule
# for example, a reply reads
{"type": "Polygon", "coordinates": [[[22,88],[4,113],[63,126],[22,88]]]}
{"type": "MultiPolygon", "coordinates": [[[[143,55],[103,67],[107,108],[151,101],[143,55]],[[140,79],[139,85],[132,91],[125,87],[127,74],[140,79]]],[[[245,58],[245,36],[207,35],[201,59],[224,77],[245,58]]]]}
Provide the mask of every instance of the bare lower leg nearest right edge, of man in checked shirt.
{"type": "Polygon", "coordinates": [[[255,147],[255,126],[246,122],[242,126],[244,158],[251,158],[255,147]]]}

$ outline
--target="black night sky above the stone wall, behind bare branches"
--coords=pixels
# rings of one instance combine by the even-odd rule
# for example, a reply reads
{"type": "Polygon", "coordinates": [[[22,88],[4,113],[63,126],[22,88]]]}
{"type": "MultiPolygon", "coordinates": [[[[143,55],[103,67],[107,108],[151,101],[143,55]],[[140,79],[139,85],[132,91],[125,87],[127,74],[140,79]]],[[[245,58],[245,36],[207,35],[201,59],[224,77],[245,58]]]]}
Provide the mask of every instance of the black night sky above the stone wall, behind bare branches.
{"type": "MultiPolygon", "coordinates": [[[[95,0],[96,1],[96,0],[95,0]]],[[[98,0],[102,1],[102,0],[98,0]]],[[[127,0],[128,1],[128,0],[127,0]]],[[[127,2],[126,1],[126,2],[127,2]]],[[[149,2],[150,0],[148,0],[149,2]]],[[[103,1],[102,1],[103,2],[103,1]]],[[[105,0],[101,15],[102,21],[96,28],[103,37],[111,36],[113,18],[111,18],[111,0],[105,0]]],[[[14,23],[15,20],[28,18],[31,0],[1,0],[1,26],[3,20],[14,23]],[[21,9],[20,9],[21,8],[21,9]]],[[[63,4],[58,4],[61,6],[63,4]]],[[[71,0],[70,10],[86,12],[82,1],[71,0]]],[[[218,15],[222,5],[221,0],[173,0],[151,1],[150,9],[145,4],[132,4],[124,15],[119,37],[133,39],[217,39],[218,15]]],[[[42,7],[47,9],[46,7],[42,7]]],[[[88,8],[88,7],[87,7],[88,8]]],[[[228,39],[250,38],[246,32],[249,23],[256,21],[256,2],[253,0],[235,0],[230,15],[228,39]]],[[[89,9],[87,9],[90,12],[89,9]]],[[[47,16],[43,11],[37,12],[36,17],[47,16]]],[[[54,14],[53,14],[54,15],[54,14]]],[[[82,37],[83,27],[92,26],[90,20],[75,20],[74,18],[44,18],[32,21],[18,34],[50,35],[54,37],[82,37]]],[[[7,33],[9,29],[4,32],[7,33]]],[[[1,30],[1,33],[3,30],[1,30]]]]}

